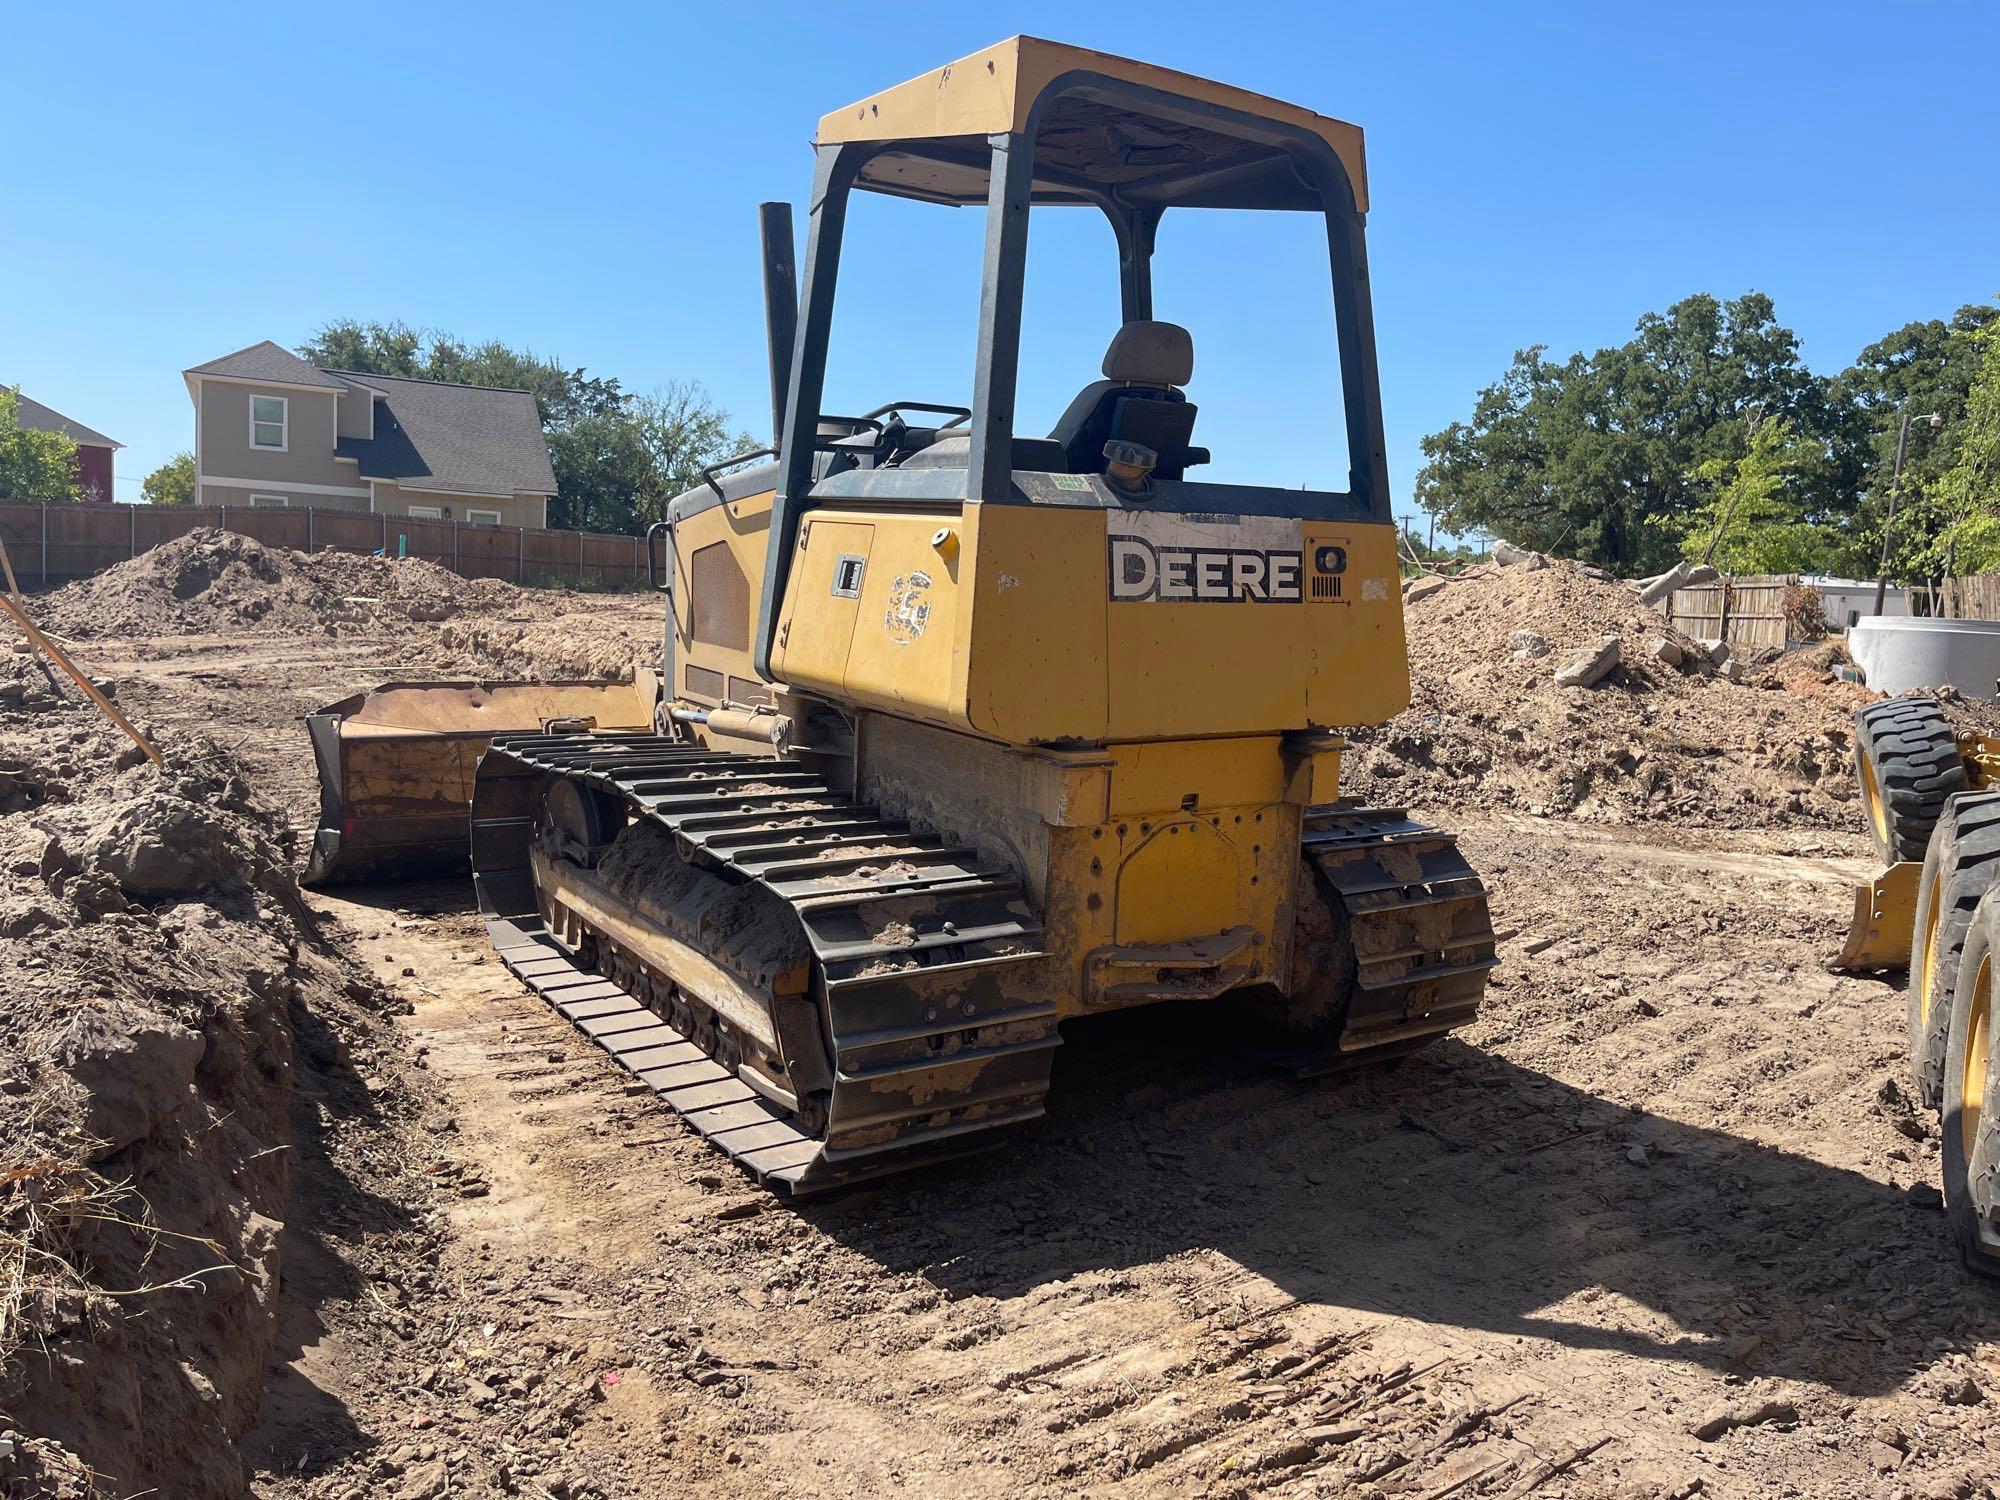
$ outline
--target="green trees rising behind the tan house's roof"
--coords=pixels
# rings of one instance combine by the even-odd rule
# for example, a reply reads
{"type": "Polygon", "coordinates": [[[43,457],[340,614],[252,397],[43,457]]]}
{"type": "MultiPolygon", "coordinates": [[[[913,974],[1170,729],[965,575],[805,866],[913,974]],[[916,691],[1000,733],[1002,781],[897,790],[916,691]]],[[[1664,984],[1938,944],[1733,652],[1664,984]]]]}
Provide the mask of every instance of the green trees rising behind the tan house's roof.
{"type": "Polygon", "coordinates": [[[704,464],[756,446],[742,434],[730,436],[728,412],[700,382],[634,396],[614,378],[500,340],[466,344],[402,322],[340,320],[322,326],[298,354],[330,370],[532,392],[556,472],[550,526],[636,530],[698,484],[704,464]]]}

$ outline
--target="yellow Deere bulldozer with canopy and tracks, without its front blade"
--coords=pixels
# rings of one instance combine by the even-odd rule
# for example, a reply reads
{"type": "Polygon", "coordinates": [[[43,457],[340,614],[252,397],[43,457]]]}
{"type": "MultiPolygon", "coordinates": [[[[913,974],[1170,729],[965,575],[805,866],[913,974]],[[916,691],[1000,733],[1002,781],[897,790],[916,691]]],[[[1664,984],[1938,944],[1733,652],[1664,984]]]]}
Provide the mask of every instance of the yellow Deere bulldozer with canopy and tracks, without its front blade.
{"type": "Polygon", "coordinates": [[[1300,1070],[1470,1020],[1480,878],[1448,832],[1340,800],[1336,730],[1410,696],[1360,130],[1014,38],[828,114],[814,154],[802,278],[764,208],[778,446],[648,538],[654,724],[478,762],[508,968],[794,1192],[1036,1118],[1074,1016],[1234,1000],[1218,1028],[1266,1018],[1300,1070]],[[962,406],[824,410],[858,192],[984,210],[962,406]],[[1244,484],[1194,444],[1194,338],[1152,296],[1192,208],[1324,224],[1346,488],[1244,484]],[[1020,436],[1048,212],[1110,220],[1120,300],[1102,378],[1020,436]]]}

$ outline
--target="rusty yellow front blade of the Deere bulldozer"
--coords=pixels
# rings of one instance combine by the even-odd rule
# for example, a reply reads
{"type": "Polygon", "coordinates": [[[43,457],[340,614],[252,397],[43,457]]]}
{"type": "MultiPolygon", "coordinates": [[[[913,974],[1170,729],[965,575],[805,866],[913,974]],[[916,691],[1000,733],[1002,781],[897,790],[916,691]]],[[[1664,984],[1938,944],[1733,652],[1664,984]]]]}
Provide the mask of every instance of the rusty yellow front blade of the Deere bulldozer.
{"type": "Polygon", "coordinates": [[[306,718],[320,826],[306,884],[464,872],[472,782],[496,734],[652,730],[656,672],[630,682],[386,682],[306,718]]]}

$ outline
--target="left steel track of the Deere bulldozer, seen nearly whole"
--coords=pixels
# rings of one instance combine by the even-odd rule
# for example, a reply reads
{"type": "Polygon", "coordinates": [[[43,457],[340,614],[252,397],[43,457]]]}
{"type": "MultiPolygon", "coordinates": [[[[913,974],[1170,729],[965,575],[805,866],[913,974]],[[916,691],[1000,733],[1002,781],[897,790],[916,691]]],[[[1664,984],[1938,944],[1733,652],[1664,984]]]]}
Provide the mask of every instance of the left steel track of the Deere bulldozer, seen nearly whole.
{"type": "MultiPolygon", "coordinates": [[[[994,984],[998,970],[1042,960],[1018,876],[852,804],[794,760],[646,734],[496,738],[474,790],[472,868],[506,966],[768,1186],[804,1194],[954,1156],[1042,1114],[1056,1006],[1048,986],[1022,1004],[994,984]],[[798,918],[830,1032],[824,1134],[768,1080],[732,1072],[670,1026],[632,992],[650,988],[646,976],[626,988],[550,932],[530,850],[554,778],[622,800],[630,818],[798,918]]],[[[634,978],[630,964],[616,968],[634,978]]]]}

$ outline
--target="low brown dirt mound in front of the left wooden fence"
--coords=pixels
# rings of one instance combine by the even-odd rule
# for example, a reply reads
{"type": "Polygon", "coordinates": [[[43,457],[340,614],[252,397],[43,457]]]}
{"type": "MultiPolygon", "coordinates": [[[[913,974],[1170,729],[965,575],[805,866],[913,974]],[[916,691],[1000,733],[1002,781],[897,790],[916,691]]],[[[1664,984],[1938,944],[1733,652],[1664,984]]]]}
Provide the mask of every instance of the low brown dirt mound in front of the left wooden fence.
{"type": "Polygon", "coordinates": [[[102,636],[380,634],[410,624],[548,618],[570,596],[460,578],[422,558],[294,552],[202,528],[80,578],[38,606],[40,624],[102,636]]]}

